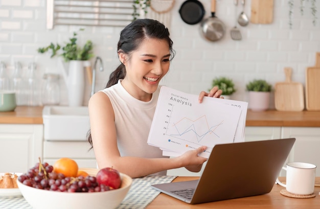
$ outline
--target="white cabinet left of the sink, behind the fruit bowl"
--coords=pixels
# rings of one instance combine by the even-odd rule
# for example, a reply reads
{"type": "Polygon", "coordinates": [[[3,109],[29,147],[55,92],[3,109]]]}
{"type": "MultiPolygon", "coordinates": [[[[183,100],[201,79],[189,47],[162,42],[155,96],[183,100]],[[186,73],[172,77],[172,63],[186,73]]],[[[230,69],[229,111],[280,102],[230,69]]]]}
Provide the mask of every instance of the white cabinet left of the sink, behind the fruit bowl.
{"type": "Polygon", "coordinates": [[[42,138],[42,124],[0,124],[0,172],[27,172],[42,158],[42,138]]]}

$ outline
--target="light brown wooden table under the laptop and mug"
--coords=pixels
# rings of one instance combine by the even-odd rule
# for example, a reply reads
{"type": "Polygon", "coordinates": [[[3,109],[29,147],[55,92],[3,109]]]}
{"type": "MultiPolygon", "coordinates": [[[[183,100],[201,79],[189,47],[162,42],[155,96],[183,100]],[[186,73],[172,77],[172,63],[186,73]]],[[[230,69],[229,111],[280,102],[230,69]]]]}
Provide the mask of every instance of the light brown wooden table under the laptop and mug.
{"type": "MultiPolygon", "coordinates": [[[[177,177],[174,181],[185,181],[194,180],[198,177],[177,177]]],[[[280,177],[280,180],[285,180],[284,177],[280,177]]],[[[173,182],[174,182],[173,181],[173,182]]],[[[320,177],[316,177],[316,184],[319,184],[320,177]]],[[[320,187],[314,188],[313,198],[299,199],[285,197],[280,194],[280,191],[284,188],[278,184],[271,190],[270,193],[264,195],[258,195],[253,197],[244,197],[231,200],[222,200],[216,202],[202,203],[202,204],[188,204],[172,198],[166,194],[159,194],[148,206],[147,209],[166,209],[166,208],[177,208],[177,209],[194,209],[194,208],[215,208],[215,209],[318,209],[320,208],[320,187]]]]}

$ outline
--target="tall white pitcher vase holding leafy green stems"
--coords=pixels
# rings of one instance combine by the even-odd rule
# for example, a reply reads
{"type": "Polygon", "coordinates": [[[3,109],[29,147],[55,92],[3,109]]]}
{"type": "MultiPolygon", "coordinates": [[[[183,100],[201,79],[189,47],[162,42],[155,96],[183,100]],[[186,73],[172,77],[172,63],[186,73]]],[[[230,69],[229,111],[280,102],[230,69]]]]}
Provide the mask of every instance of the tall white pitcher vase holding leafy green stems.
{"type": "Polygon", "coordinates": [[[68,90],[68,104],[69,106],[82,106],[85,86],[83,61],[71,60],[68,64],[68,72],[66,73],[65,69],[63,71],[68,90]]]}

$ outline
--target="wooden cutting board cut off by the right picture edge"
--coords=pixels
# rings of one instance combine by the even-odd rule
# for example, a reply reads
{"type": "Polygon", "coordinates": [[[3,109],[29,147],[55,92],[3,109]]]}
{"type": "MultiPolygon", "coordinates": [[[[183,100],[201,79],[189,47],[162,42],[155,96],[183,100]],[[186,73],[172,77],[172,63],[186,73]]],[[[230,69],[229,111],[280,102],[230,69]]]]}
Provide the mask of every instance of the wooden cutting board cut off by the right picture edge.
{"type": "Polygon", "coordinates": [[[306,69],[306,109],[320,110],[320,52],[316,53],[315,66],[306,69]]]}

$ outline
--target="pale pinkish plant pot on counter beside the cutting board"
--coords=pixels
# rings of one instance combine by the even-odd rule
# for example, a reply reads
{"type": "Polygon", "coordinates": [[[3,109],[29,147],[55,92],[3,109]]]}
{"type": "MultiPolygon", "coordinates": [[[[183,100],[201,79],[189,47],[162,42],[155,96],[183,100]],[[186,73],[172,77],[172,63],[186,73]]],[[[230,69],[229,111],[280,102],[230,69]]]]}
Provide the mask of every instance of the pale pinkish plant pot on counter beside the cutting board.
{"type": "Polygon", "coordinates": [[[249,109],[265,111],[269,109],[270,92],[249,91],[249,109]]]}

